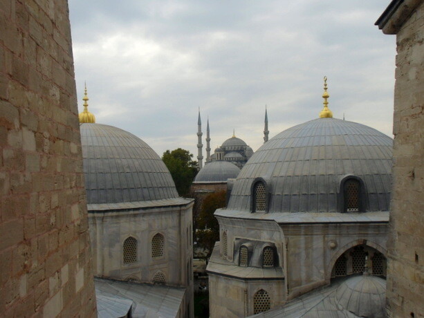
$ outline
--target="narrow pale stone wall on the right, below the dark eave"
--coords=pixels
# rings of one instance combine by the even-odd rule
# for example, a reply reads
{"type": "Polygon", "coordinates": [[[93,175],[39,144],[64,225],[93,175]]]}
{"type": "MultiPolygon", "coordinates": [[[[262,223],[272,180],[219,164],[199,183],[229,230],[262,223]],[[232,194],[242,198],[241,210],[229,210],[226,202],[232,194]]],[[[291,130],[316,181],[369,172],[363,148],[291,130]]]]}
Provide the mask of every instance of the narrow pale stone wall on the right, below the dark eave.
{"type": "Polygon", "coordinates": [[[424,317],[424,3],[397,32],[394,191],[387,268],[391,317],[424,317]]]}

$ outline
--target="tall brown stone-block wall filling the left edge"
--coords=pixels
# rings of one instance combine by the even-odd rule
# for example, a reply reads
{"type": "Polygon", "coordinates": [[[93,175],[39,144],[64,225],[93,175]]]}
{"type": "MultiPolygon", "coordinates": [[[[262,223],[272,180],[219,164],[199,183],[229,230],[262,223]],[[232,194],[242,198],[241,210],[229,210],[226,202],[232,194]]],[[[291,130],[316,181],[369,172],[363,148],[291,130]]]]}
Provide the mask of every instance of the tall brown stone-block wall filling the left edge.
{"type": "Polygon", "coordinates": [[[0,315],[95,316],[66,0],[0,1],[0,315]]]}

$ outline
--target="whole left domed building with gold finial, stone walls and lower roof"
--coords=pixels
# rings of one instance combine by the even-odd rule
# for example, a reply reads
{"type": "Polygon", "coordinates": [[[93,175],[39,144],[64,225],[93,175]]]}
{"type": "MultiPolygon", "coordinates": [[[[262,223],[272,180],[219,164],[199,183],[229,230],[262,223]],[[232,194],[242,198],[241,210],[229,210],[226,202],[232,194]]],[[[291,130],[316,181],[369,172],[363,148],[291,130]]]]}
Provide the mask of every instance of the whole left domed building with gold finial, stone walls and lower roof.
{"type": "Polygon", "coordinates": [[[140,138],[80,113],[99,317],[193,317],[192,207],[140,138]]]}

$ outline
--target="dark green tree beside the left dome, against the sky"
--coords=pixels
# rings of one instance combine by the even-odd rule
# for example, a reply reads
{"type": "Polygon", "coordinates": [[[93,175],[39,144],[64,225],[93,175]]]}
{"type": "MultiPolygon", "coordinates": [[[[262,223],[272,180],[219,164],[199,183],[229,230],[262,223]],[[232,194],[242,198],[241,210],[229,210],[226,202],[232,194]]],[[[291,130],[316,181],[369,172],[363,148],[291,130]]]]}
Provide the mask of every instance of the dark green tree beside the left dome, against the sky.
{"type": "Polygon", "coordinates": [[[181,148],[173,151],[167,150],[162,156],[180,196],[188,196],[194,177],[199,172],[197,162],[192,158],[193,155],[190,151],[181,148]]]}

